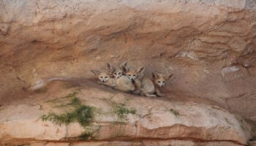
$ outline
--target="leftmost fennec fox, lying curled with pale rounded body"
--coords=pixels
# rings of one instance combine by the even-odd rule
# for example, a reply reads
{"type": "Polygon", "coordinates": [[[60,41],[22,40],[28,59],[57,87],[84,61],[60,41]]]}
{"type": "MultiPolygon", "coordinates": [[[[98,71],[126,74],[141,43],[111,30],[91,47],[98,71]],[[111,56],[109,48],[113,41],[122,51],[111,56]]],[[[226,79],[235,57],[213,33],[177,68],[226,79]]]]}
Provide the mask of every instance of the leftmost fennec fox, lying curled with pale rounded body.
{"type": "Polygon", "coordinates": [[[135,85],[132,84],[132,81],[128,77],[123,75],[116,75],[115,72],[117,68],[113,68],[110,64],[107,63],[108,71],[99,72],[97,70],[91,70],[99,79],[98,83],[101,85],[107,85],[111,88],[114,88],[118,91],[130,93],[135,90],[135,85]]]}

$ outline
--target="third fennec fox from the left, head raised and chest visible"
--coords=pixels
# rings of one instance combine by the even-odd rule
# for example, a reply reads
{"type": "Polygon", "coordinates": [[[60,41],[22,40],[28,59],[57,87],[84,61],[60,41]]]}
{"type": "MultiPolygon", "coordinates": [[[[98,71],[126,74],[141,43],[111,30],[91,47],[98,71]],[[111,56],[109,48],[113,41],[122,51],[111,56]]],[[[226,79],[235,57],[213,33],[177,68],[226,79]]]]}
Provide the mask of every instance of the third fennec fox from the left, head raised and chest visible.
{"type": "Polygon", "coordinates": [[[122,68],[125,72],[126,76],[129,77],[130,80],[132,80],[132,83],[135,85],[135,91],[132,93],[139,94],[140,93],[140,86],[141,86],[141,80],[143,78],[143,72],[145,71],[144,67],[138,68],[137,71],[135,70],[129,70],[127,68],[122,68]]]}

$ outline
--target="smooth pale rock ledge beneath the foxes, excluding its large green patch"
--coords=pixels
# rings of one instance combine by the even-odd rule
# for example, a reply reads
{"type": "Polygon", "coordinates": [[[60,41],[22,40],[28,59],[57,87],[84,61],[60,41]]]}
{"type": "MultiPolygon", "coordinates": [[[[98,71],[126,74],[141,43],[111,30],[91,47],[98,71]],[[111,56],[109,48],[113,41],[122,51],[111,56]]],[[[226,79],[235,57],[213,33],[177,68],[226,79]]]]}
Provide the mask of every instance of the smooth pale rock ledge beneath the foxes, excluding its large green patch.
{"type": "MultiPolygon", "coordinates": [[[[95,141],[94,145],[106,142],[110,144],[113,140],[134,140],[138,141],[134,143],[141,143],[140,145],[145,142],[159,145],[162,142],[167,145],[177,139],[181,144],[196,144],[200,141],[209,142],[208,145],[211,142],[245,145],[251,133],[250,126],[242,118],[216,105],[131,96],[91,87],[60,89],[58,92],[48,93],[44,98],[38,96],[35,94],[30,97],[33,104],[1,107],[2,145],[23,141],[31,144],[68,144],[79,140],[95,141]],[[59,94],[68,92],[72,96],[59,97],[59,94]],[[94,118],[90,123],[85,126],[78,122],[61,124],[63,120],[58,122],[61,116],[55,120],[43,120],[42,115],[61,115],[72,111],[70,103],[74,98],[78,98],[83,105],[94,108],[94,118]],[[97,142],[98,140],[102,142],[97,142]]],[[[86,143],[89,145],[88,142],[83,145],[86,143]]],[[[127,145],[132,143],[127,142],[127,145]]]]}

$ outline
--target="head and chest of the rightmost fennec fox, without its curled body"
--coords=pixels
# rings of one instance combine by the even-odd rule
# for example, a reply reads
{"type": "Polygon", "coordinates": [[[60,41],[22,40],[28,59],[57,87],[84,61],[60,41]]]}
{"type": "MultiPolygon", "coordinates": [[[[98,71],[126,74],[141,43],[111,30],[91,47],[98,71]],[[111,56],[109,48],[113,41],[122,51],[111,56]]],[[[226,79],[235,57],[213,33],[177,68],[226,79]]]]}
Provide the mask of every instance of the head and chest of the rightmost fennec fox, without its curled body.
{"type": "Polygon", "coordinates": [[[161,91],[159,90],[159,88],[164,87],[165,83],[167,82],[167,80],[170,80],[170,78],[173,77],[173,74],[158,74],[157,72],[152,72],[152,80],[154,82],[155,85],[155,93],[157,94],[157,96],[162,96],[161,91]]]}

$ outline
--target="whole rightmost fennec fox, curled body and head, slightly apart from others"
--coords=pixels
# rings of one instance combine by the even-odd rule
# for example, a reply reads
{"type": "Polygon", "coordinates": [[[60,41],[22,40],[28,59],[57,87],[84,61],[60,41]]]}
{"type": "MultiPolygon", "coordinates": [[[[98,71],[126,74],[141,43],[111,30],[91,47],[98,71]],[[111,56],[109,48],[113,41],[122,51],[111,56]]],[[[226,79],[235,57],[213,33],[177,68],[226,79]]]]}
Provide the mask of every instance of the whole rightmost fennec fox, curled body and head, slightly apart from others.
{"type": "Polygon", "coordinates": [[[156,72],[152,73],[152,80],[148,77],[143,77],[141,80],[140,95],[142,96],[162,96],[159,88],[165,85],[165,82],[173,77],[173,74],[162,75],[156,72]]]}

